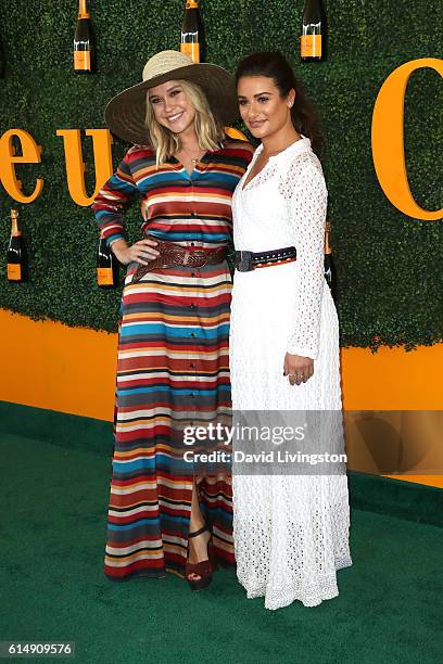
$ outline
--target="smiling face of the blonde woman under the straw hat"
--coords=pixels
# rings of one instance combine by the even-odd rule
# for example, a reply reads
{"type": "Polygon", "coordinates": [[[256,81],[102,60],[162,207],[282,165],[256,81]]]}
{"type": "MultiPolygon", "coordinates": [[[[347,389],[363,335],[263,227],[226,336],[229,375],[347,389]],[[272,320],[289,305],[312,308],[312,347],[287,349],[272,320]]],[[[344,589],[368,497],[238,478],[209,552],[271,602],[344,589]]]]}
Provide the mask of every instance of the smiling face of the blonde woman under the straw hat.
{"type": "Polygon", "coordinates": [[[149,91],[149,103],[155,119],[174,133],[193,128],[195,110],[188,100],[180,81],[168,80],[149,91]]]}

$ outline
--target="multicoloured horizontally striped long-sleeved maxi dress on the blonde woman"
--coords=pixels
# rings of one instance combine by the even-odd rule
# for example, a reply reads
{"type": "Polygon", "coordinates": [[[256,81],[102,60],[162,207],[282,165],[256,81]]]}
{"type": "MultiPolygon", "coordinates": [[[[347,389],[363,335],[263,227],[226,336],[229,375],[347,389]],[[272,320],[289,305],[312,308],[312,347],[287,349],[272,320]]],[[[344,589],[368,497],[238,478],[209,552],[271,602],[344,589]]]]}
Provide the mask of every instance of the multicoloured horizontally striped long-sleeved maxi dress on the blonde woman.
{"type": "MultiPolygon", "coordinates": [[[[151,149],[132,146],[92,205],[100,231],[109,244],[122,238],[122,213],[138,195],[143,235],[226,245],[231,196],[252,152],[227,139],[189,175],[175,157],[156,167],[151,149]]],[[[185,574],[193,475],[182,459],[183,422],[214,421],[230,409],[227,263],[156,269],[131,283],[137,265],[128,266],[118,325],[104,563],[113,580],[185,574]]],[[[215,554],[233,563],[230,476],[204,477],[199,501],[215,554]]]]}

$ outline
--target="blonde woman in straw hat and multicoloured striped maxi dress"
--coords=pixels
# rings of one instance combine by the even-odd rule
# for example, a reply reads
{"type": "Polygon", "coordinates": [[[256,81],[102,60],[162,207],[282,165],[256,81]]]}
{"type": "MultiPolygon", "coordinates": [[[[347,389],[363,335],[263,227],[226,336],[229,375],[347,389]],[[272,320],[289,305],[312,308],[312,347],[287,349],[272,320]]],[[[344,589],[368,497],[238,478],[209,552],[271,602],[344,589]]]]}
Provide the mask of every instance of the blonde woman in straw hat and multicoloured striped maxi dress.
{"type": "Polygon", "coordinates": [[[225,137],[233,84],[215,65],[164,51],[143,82],[111,100],[110,128],[135,143],[96,197],[100,232],[128,266],[119,322],[115,444],[105,574],[211,582],[233,563],[231,482],[195,481],[183,426],[228,416],[231,196],[252,156],[225,137]],[[150,146],[148,146],[150,145],[150,146]],[[141,196],[143,240],[122,212],[141,196]]]}

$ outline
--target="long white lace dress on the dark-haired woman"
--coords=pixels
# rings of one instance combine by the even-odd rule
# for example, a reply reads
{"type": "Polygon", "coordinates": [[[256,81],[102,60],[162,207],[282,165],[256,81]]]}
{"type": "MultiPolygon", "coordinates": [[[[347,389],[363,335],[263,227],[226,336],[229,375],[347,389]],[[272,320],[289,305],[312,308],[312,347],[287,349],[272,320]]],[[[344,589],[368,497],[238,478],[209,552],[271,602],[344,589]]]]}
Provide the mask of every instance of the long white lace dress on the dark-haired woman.
{"type": "MultiPolygon", "coordinates": [[[[339,328],[324,278],[327,190],[302,137],[233,195],[236,250],[295,246],[298,259],[235,273],[230,371],[233,410],[340,410],[339,328]],[[314,359],[300,386],[283,376],[284,354],[314,359]]],[[[343,475],[233,475],[237,574],[267,609],[336,597],[336,571],[352,564],[343,475]]]]}

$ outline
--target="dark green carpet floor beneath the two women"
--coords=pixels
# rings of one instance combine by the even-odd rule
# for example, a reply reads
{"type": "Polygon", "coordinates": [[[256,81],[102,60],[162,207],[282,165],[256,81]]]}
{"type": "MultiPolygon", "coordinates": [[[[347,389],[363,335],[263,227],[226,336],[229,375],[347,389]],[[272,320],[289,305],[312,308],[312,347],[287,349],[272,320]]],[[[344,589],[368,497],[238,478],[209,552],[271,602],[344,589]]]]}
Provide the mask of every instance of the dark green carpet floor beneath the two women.
{"type": "Polygon", "coordinates": [[[110,468],[105,455],[1,434],[0,640],[75,641],[86,664],[441,661],[441,528],[353,509],[354,565],[313,609],[267,611],[227,570],[195,593],[172,575],[113,584],[110,468]]]}

